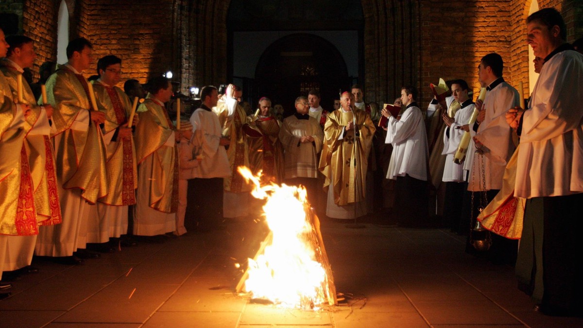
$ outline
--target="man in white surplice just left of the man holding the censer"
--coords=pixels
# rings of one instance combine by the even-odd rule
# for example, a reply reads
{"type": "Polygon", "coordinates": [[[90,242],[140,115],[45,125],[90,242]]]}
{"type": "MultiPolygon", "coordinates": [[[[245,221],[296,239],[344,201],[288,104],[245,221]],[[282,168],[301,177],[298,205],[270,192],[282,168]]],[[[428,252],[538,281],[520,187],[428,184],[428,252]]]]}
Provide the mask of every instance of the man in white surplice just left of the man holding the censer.
{"type": "Polygon", "coordinates": [[[468,83],[465,80],[454,80],[451,84],[452,96],[460,104],[454,117],[447,113],[441,114],[447,128],[443,133],[443,151],[445,155],[442,181],[445,182],[444,217],[452,231],[458,231],[462,213],[463,192],[466,189],[463,179],[462,164],[454,163],[455,152],[462,140],[462,126],[468,124],[475,107],[473,101],[468,98],[468,83]]]}

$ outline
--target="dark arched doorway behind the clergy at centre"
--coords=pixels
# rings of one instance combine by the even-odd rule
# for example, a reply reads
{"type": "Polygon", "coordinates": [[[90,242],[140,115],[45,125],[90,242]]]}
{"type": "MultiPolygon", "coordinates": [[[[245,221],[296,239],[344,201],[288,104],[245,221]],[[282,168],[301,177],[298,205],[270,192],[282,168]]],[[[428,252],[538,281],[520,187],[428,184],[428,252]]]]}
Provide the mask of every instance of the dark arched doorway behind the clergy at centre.
{"type": "Polygon", "coordinates": [[[294,100],[319,90],[322,107],[332,108],[338,91],[346,91],[352,79],[338,49],[322,37],[296,33],[280,38],[261,55],[255,69],[255,86],[259,96],[282,104],[284,115],[295,111],[294,100]]]}

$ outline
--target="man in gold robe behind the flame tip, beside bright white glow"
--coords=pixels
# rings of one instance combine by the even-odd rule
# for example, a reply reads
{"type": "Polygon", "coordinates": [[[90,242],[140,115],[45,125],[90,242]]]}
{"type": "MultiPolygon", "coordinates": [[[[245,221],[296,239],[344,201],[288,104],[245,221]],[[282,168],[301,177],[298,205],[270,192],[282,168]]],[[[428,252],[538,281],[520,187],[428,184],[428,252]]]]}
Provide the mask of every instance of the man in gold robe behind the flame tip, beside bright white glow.
{"type": "Polygon", "coordinates": [[[247,114],[238,104],[242,96],[243,91],[240,87],[229,84],[216,107],[213,107],[213,112],[219,117],[219,123],[223,128],[223,137],[230,140],[227,157],[231,176],[224,178],[223,181],[223,217],[226,218],[245,217],[249,214],[251,185],[248,185],[243,176],[237,172],[237,167],[250,167],[249,149],[243,133],[247,114]]]}

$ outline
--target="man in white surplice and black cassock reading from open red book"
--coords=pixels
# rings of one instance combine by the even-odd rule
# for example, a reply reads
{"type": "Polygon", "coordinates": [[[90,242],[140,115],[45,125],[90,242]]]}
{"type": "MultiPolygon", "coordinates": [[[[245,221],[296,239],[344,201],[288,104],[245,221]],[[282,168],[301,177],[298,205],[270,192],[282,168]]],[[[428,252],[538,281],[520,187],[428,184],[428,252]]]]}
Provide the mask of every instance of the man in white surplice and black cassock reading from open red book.
{"type": "Polygon", "coordinates": [[[393,151],[387,179],[396,180],[394,213],[399,225],[419,227],[428,223],[429,204],[427,191],[427,135],[423,114],[415,99],[417,89],[405,86],[401,89],[401,101],[405,111],[401,119],[392,117],[387,110],[387,138],[393,151]]]}

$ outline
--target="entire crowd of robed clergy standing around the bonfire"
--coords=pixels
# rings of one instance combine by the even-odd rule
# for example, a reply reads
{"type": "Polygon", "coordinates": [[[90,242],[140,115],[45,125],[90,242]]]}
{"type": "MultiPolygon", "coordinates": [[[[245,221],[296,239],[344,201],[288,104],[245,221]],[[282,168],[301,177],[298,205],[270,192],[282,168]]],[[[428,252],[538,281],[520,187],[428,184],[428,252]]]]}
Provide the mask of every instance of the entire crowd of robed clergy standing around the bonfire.
{"type": "Polygon", "coordinates": [[[526,25],[540,73],[526,104],[491,53],[478,66],[476,101],[455,79],[426,111],[416,87],[403,86],[392,111],[364,103],[354,85],[331,110],[318,90],[299,96],[283,118],[266,97],[245,111],[229,84],[203,87],[183,120],[170,117],[166,77],[150,79],[147,96],[134,94],[136,80],[117,87],[114,55],[89,82],[85,38],[69,43],[68,62],[36,95],[23,78],[33,40],[0,30],[0,274],[36,271],[33,255],[79,264],[134,244],[126,234],[163,239],[185,234],[185,222],[207,231],[252,220],[260,204],[237,171],[247,167],[262,184],[304,186],[319,216],[356,220],[388,204],[402,227],[435,227],[430,195],[443,186],[441,227],[467,235],[467,252],[515,266],[539,311],[581,315],[583,56],[565,42],[556,10],[526,25]]]}

